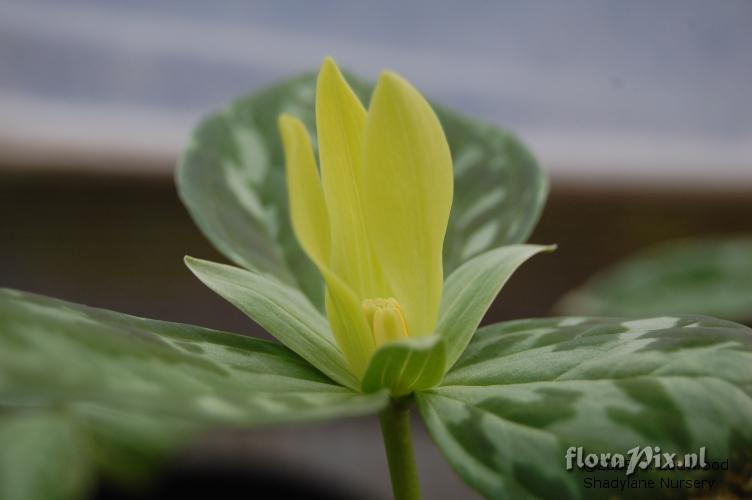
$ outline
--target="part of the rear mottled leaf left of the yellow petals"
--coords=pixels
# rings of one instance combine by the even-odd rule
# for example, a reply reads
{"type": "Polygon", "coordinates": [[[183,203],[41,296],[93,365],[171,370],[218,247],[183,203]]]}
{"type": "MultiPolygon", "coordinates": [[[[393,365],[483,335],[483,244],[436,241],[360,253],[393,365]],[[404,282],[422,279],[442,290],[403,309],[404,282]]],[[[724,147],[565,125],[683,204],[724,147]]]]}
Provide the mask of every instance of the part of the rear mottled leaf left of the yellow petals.
{"type": "Polygon", "coordinates": [[[206,118],[180,160],[178,192],[194,221],[227,258],[271,274],[323,304],[318,271],[290,225],[277,117],[313,124],[315,75],[239,99],[206,118]]]}

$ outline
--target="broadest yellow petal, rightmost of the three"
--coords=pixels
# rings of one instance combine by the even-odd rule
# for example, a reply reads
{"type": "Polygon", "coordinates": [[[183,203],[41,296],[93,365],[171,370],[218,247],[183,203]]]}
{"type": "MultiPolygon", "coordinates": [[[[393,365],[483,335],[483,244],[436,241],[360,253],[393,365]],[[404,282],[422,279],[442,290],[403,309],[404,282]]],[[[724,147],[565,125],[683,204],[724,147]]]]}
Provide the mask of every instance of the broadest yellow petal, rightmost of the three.
{"type": "Polygon", "coordinates": [[[373,251],[410,336],[430,335],[441,302],[452,158],[428,102],[394,73],[381,75],[371,98],[363,158],[373,251]]]}

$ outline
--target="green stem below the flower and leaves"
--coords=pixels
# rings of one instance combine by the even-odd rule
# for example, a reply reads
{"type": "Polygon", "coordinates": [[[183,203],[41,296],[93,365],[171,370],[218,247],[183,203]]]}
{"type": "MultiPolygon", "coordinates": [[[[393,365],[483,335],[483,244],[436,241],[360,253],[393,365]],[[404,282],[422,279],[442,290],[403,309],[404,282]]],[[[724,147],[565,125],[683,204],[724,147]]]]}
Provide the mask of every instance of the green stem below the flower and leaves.
{"type": "Polygon", "coordinates": [[[420,500],[420,482],[410,435],[412,398],[392,399],[379,414],[395,500],[420,500]]]}

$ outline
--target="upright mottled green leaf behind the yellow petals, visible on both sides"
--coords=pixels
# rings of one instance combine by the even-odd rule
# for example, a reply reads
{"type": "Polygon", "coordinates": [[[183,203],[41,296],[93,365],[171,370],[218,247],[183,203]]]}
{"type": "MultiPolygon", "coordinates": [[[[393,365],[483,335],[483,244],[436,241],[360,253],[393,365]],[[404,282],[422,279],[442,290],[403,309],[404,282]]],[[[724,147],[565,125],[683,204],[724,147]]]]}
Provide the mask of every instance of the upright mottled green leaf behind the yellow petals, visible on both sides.
{"type": "MultiPolygon", "coordinates": [[[[364,102],[372,86],[349,81],[364,102]]],[[[234,263],[300,288],[319,308],[318,272],[290,227],[277,117],[290,113],[314,136],[315,75],[304,74],[235,101],[195,131],[180,161],[183,202],[234,263]]],[[[445,271],[491,248],[524,241],[545,202],[538,165],[508,132],[436,107],[454,159],[455,191],[445,271]]]]}

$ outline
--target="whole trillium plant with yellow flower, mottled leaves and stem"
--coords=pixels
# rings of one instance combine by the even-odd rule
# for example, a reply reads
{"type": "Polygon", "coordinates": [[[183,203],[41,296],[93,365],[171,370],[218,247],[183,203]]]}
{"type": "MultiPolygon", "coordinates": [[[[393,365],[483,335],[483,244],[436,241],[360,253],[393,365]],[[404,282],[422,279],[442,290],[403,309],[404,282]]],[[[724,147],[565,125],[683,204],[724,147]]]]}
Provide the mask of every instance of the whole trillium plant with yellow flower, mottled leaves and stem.
{"type": "MultiPolygon", "coordinates": [[[[453,193],[444,133],[410,84],[385,72],[366,111],[325,60],[314,110],[314,80],[208,117],[177,173],[199,227],[235,265],[186,264],[278,342],[0,289],[0,477],[13,479],[0,497],[78,498],[90,485],[71,479],[96,478],[90,466],[120,456],[124,439],[149,452],[147,465],[217,427],[378,414],[394,498],[417,500],[413,406],[488,498],[590,496],[582,471],[562,466],[576,449],[613,457],[647,442],[686,464],[707,448],[745,466],[752,330],[665,314],[479,329],[512,273],[553,250],[521,243],[545,201],[535,160],[507,132],[439,110],[453,193]],[[285,196],[268,118],[293,107],[317,114],[320,169],[303,124],[282,116],[285,196]],[[290,224],[278,217],[288,200],[290,224]],[[34,474],[40,465],[50,473],[34,474]]],[[[728,479],[713,469],[707,484],[728,479]]],[[[704,493],[690,484],[701,471],[675,472],[677,495],[704,493]]]]}

